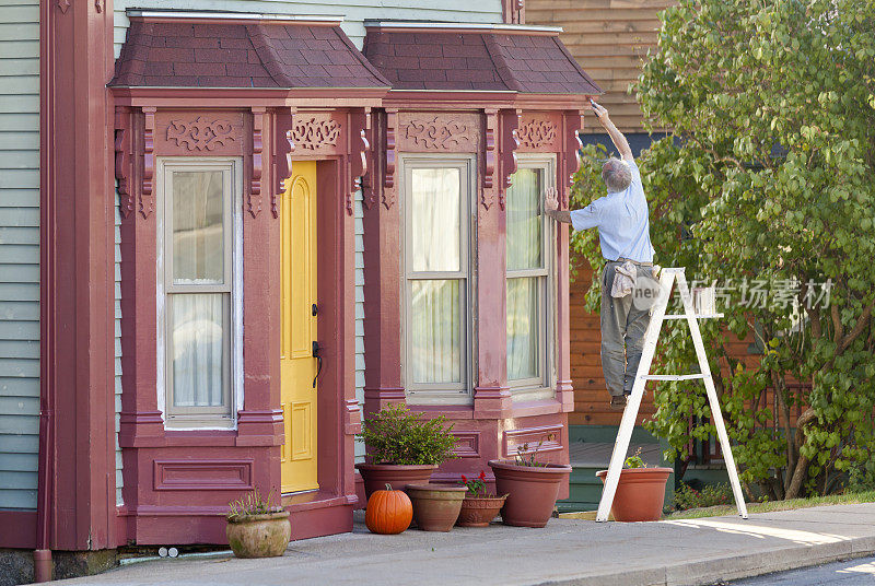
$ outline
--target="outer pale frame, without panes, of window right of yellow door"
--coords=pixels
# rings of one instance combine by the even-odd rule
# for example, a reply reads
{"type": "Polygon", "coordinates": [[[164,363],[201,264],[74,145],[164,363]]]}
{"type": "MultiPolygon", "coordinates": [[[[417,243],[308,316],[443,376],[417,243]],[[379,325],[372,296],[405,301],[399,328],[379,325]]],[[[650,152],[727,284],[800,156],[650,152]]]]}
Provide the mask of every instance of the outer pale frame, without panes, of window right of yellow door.
{"type": "Polygon", "coordinates": [[[477,257],[477,159],[474,155],[431,155],[409,154],[399,157],[400,216],[401,216],[401,376],[410,405],[470,405],[474,400],[476,373],[474,314],[476,307],[475,260],[477,257]],[[407,190],[412,183],[413,168],[458,168],[462,181],[459,197],[459,256],[458,272],[413,272],[408,253],[412,250],[412,207],[408,204],[407,190]],[[459,288],[460,320],[460,365],[462,382],[456,384],[413,383],[410,373],[409,327],[412,315],[410,295],[411,281],[415,280],[460,279],[465,286],[459,288]]]}

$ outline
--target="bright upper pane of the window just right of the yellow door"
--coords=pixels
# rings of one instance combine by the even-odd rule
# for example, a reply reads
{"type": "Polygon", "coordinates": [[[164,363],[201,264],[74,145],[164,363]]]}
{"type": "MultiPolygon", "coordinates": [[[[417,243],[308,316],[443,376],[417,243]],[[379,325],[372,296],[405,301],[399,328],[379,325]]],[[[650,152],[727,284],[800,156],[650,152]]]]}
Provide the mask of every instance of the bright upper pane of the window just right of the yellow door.
{"type": "Polygon", "coordinates": [[[458,168],[412,169],[409,201],[415,272],[459,270],[460,181],[458,168]]]}

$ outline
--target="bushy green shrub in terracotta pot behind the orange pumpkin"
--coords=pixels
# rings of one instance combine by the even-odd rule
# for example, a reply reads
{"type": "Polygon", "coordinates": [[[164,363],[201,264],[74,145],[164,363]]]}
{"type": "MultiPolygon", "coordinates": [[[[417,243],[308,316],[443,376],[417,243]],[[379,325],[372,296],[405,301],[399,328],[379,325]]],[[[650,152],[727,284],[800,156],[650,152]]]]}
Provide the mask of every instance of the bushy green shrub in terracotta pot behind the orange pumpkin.
{"type": "Polygon", "coordinates": [[[388,405],[362,422],[366,464],[357,464],[366,497],[386,484],[401,488],[427,483],[445,460],[454,458],[456,440],[443,415],[423,419],[404,405],[388,405]]]}

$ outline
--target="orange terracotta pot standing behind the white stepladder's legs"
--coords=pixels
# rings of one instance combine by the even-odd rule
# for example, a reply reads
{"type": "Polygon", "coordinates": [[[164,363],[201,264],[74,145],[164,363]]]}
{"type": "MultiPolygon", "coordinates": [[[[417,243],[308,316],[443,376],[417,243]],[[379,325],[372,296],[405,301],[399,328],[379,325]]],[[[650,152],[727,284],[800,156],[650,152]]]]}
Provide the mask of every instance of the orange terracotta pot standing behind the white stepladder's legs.
{"type": "MultiPolygon", "coordinates": [[[[616,520],[660,520],[670,468],[623,468],[610,512],[616,520]]],[[[607,470],[595,473],[605,481],[607,470]]]]}

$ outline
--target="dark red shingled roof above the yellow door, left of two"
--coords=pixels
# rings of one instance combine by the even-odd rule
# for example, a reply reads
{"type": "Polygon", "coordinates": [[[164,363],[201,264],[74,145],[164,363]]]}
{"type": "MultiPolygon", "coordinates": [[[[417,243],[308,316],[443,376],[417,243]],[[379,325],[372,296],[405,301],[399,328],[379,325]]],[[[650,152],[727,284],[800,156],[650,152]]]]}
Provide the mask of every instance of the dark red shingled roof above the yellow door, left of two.
{"type": "Polygon", "coordinates": [[[112,86],[386,87],[339,26],[131,20],[112,86]]]}

